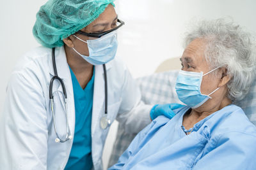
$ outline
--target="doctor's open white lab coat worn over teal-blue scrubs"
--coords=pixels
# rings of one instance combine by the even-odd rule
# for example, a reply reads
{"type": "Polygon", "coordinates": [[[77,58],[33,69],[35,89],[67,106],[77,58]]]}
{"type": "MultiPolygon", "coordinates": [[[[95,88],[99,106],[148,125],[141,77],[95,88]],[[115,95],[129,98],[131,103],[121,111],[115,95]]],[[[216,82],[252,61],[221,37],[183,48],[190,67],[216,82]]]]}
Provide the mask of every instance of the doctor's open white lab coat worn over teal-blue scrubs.
{"type": "MultiPolygon", "coordinates": [[[[0,169],[63,169],[72,148],[72,139],[56,143],[49,102],[49,83],[54,75],[51,48],[38,47],[26,53],[8,83],[4,111],[0,117],[0,169]]],[[[65,50],[56,48],[56,67],[67,90],[67,113],[74,136],[75,106],[70,70],[65,50]]],[[[108,118],[125,124],[127,132],[138,132],[150,123],[150,108],[141,102],[140,90],[120,59],[106,64],[108,74],[108,118]]],[[[56,126],[65,136],[66,118],[60,83],[54,83],[56,126]]],[[[92,159],[94,169],[102,169],[102,149],[108,129],[100,128],[104,115],[104,72],[95,66],[92,110],[92,159]]]]}

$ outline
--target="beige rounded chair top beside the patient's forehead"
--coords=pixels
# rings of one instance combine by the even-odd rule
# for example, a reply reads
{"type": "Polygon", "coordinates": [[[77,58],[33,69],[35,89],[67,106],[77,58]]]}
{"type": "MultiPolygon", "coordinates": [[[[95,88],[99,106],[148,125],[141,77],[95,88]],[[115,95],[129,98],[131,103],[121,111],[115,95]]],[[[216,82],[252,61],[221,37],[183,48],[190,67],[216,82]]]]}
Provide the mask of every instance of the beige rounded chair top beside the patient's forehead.
{"type": "Polygon", "coordinates": [[[155,73],[170,71],[173,69],[180,69],[180,57],[164,60],[156,69],[155,73]]]}

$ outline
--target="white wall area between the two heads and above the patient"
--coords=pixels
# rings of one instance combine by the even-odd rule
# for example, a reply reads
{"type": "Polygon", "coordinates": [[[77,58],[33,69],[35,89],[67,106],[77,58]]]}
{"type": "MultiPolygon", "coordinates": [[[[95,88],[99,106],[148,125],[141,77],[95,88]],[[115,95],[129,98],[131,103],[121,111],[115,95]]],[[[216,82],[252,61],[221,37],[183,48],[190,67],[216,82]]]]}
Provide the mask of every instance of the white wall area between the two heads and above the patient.
{"type": "Polygon", "coordinates": [[[154,72],[169,57],[182,55],[182,37],[191,19],[231,16],[256,31],[255,0],[119,0],[119,51],[134,77],[154,72]]]}

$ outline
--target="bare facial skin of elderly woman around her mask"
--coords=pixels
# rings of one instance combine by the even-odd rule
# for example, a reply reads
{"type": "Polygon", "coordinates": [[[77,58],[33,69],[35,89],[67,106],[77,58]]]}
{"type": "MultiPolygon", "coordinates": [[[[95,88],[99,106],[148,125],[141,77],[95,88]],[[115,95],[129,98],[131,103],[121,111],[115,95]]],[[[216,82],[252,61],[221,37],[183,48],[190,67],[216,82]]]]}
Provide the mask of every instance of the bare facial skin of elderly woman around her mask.
{"type": "MultiPolygon", "coordinates": [[[[182,70],[200,72],[204,74],[211,71],[211,68],[207,64],[204,58],[205,40],[195,39],[189,43],[185,48],[183,55],[181,57],[182,70]]],[[[218,71],[218,69],[216,70],[218,71]]],[[[220,82],[220,77],[215,76],[213,71],[202,78],[201,92],[202,94],[208,95],[213,90],[217,89],[218,83],[220,82]]],[[[212,94],[213,96],[214,94],[212,94]]]]}

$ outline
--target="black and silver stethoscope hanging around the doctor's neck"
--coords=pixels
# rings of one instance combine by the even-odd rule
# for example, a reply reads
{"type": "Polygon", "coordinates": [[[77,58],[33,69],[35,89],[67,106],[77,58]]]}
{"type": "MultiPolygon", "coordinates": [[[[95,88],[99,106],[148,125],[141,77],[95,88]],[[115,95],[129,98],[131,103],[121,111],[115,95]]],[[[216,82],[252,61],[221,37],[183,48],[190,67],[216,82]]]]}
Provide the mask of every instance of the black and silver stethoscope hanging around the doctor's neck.
{"type": "MultiPolygon", "coordinates": [[[[56,133],[57,138],[55,139],[56,143],[64,143],[65,141],[68,141],[69,139],[72,139],[73,136],[70,135],[70,129],[68,124],[68,113],[67,113],[67,91],[64,85],[63,80],[58,76],[57,73],[57,67],[56,67],[56,61],[55,61],[55,48],[52,48],[52,65],[54,69],[54,76],[52,77],[50,81],[50,89],[49,89],[49,97],[51,102],[51,111],[52,111],[52,119],[53,119],[53,125],[54,125],[54,131],[56,133]],[[55,120],[55,113],[54,113],[54,99],[52,94],[52,86],[54,83],[54,80],[58,80],[61,83],[61,87],[63,89],[63,95],[65,97],[65,112],[66,112],[66,120],[67,120],[67,133],[64,139],[61,139],[58,135],[57,129],[56,129],[56,120],[55,120]]],[[[108,119],[108,78],[106,73],[106,65],[103,64],[103,70],[104,70],[104,81],[105,81],[105,114],[102,118],[100,118],[100,127],[102,129],[107,129],[109,125],[111,124],[111,121],[108,119]]]]}

